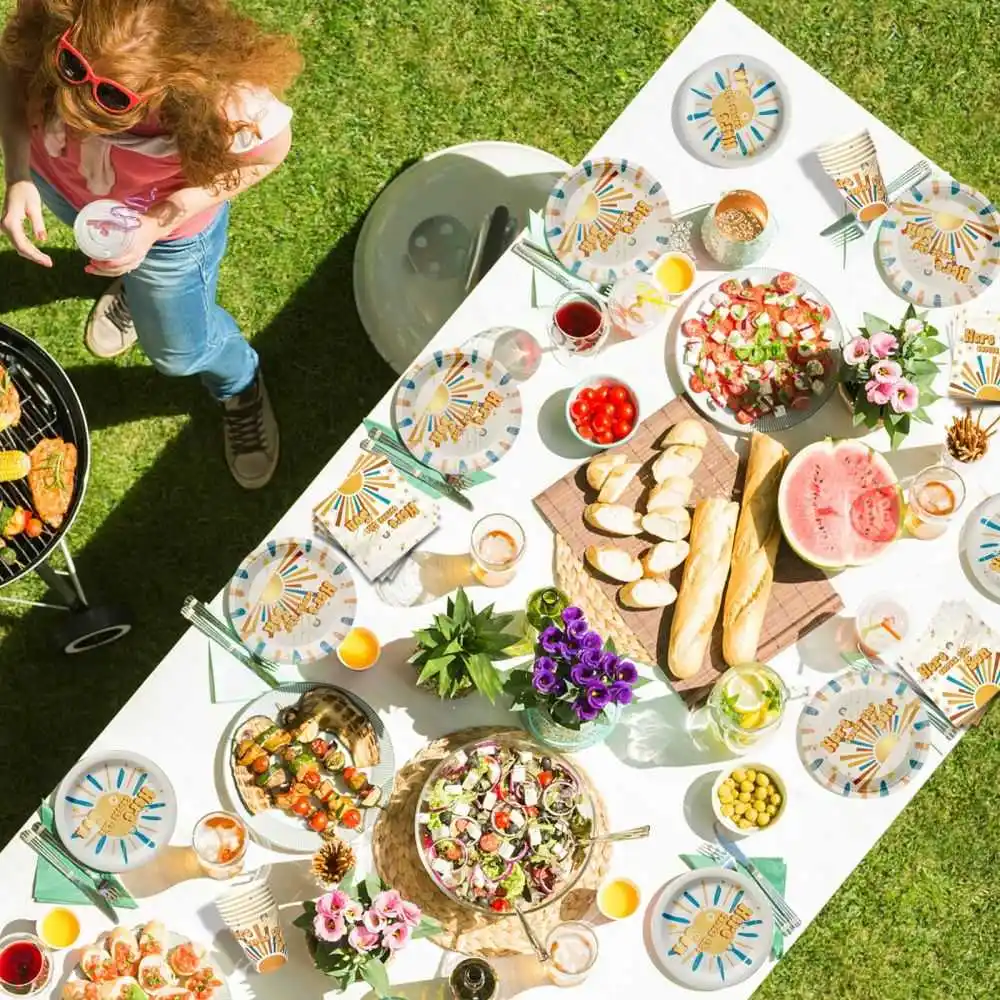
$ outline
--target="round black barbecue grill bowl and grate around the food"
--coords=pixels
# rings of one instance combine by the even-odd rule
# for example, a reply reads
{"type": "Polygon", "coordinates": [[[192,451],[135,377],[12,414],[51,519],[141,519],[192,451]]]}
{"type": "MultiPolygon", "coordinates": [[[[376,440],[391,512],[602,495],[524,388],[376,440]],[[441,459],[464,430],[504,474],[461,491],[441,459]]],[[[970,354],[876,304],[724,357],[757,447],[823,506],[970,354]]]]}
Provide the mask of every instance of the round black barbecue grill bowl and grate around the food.
{"type": "MultiPolygon", "coordinates": [[[[38,538],[20,534],[6,540],[17,555],[17,564],[0,563],[0,587],[4,587],[47,558],[72,525],[86,492],[90,436],[80,398],[63,369],[33,340],[3,323],[0,365],[17,388],[21,405],[20,420],[0,431],[0,451],[30,452],[43,438],[52,437],[61,437],[77,449],[76,483],[63,523],[58,528],[46,526],[38,538]]],[[[0,505],[33,509],[28,480],[0,483],[0,505]]]]}

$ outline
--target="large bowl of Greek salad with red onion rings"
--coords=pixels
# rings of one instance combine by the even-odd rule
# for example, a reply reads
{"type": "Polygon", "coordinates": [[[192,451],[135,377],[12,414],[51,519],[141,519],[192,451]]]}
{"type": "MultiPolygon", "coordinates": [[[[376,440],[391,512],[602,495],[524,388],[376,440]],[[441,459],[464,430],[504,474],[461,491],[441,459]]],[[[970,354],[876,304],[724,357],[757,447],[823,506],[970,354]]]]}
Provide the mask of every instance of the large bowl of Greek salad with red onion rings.
{"type": "Polygon", "coordinates": [[[434,769],[415,827],[427,874],[450,899],[497,916],[530,913],[585,871],[594,806],[559,754],[518,737],[482,739],[434,769]]]}

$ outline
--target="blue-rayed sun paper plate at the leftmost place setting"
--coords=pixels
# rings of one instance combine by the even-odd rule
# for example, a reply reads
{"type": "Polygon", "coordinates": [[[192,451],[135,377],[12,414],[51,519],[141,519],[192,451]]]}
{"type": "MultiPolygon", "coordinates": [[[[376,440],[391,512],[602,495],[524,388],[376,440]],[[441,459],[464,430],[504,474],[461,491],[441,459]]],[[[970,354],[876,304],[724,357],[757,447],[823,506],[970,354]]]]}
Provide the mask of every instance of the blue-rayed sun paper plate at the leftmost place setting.
{"type": "Polygon", "coordinates": [[[148,864],[177,825],[177,796],[163,771],[128,750],[84,757],[63,779],[53,815],[63,846],[83,865],[127,872],[148,864]]]}

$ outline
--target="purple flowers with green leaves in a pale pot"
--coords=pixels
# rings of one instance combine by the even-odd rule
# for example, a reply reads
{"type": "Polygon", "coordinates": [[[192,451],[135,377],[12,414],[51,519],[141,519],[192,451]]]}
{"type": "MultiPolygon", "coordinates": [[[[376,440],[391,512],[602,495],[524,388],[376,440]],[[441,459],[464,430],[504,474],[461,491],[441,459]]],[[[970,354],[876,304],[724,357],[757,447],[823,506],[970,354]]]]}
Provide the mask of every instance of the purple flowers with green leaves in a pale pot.
{"type": "Polygon", "coordinates": [[[561,627],[551,624],[539,633],[531,669],[511,670],[505,690],[514,708],[542,709],[566,729],[606,721],[615,706],[632,701],[635,664],[615,654],[580,608],[571,605],[557,621],[561,627]]]}

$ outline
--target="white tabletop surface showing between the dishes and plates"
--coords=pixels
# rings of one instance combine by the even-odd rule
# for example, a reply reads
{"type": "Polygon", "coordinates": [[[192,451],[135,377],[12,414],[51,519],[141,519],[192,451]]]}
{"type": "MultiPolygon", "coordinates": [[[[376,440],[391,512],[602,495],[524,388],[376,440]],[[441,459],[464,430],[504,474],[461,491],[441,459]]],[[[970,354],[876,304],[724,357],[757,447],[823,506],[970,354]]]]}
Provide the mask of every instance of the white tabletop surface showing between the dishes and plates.
{"type": "MultiPolygon", "coordinates": [[[[773,38],[724,2],[713,6],[691,33],[671,53],[663,66],[629,107],[602,136],[593,155],[627,157],[651,170],[664,184],[675,211],[714,202],[725,190],[749,188],[763,196],[778,221],[778,236],[761,262],[794,271],[816,285],[833,302],[846,328],[861,322],[863,311],[890,320],[902,315],[904,303],[883,284],[876,272],[870,240],[850,247],[842,268],[841,251],[818,236],[818,231],[843,211],[840,196],[808,154],[817,145],[851,130],[868,128],[878,146],[887,177],[901,173],[919,152],[872,118],[831,83],[779,45],[773,38]],[[709,58],[729,52],[752,53],[773,66],[791,96],[789,134],[775,155],[763,163],[734,171],[706,167],[679,145],[670,125],[674,94],[684,78],[709,58]]],[[[710,274],[703,273],[706,280],[710,274]]],[[[549,313],[530,305],[531,271],[527,264],[506,255],[434,338],[431,347],[459,346],[478,332],[498,325],[521,326],[543,344],[549,313]]],[[[947,311],[932,318],[942,328],[947,311]]],[[[591,363],[591,370],[618,374],[637,390],[641,411],[650,413],[675,396],[665,365],[665,333],[617,344],[591,363]]],[[[316,377],[324,377],[318,365],[316,377]]],[[[516,446],[492,470],[496,478],[476,486],[470,497],[475,513],[465,513],[442,500],[443,524],[424,548],[435,553],[468,551],[474,521],[491,511],[515,516],[525,527],[527,553],[516,579],[496,591],[475,588],[477,606],[496,600],[501,609],[524,606],[528,594],[552,579],[552,534],[532,505],[532,497],[583,459],[575,450],[562,416],[562,391],[580,377],[546,355],[538,373],[521,386],[525,421],[516,446]]],[[[372,416],[388,423],[391,391],[372,416]]],[[[917,424],[905,447],[892,458],[901,475],[931,464],[940,452],[943,424],[950,419],[947,402],[935,404],[933,427],[917,424]]],[[[846,408],[834,398],[820,415],[779,435],[794,452],[825,435],[853,433],[846,408]]],[[[342,480],[358,454],[361,428],[344,442],[319,476],[302,493],[267,537],[306,536],[312,531],[311,511],[342,480]]],[[[732,440],[732,439],[730,439],[732,440]]],[[[885,449],[882,432],[871,442],[885,449]]],[[[1000,450],[1000,449],[998,449],[1000,450]]],[[[984,463],[980,482],[994,482],[1000,467],[993,455],[984,463]]],[[[968,505],[981,496],[974,488],[968,505]]],[[[248,540],[249,544],[249,540],[248,540]]],[[[483,724],[510,724],[514,718],[501,706],[493,708],[481,697],[457,703],[441,702],[414,686],[413,668],[405,663],[412,649],[410,633],[424,626],[437,605],[390,608],[380,603],[374,590],[356,574],[359,588],[357,622],[373,628],[385,648],[377,666],[352,673],[332,658],[296,672],[307,680],[334,681],[356,691],[379,712],[392,736],[397,764],[416,753],[429,739],[446,732],[483,724]]],[[[967,599],[985,617],[995,610],[968,583],[959,564],[957,528],[934,542],[902,540],[877,564],[850,570],[832,582],[851,614],[869,593],[897,585],[912,587],[933,580],[929,597],[967,599]]],[[[223,582],[223,581],[218,581],[223,582]]],[[[914,588],[916,589],[916,588],[914,588]]],[[[916,608],[918,605],[914,604],[916,608]]],[[[174,613],[174,609],[164,609],[174,613]]],[[[843,645],[842,618],[810,633],[773,661],[791,685],[817,688],[839,672],[843,645]]],[[[280,854],[254,844],[249,864],[270,865],[271,884],[283,904],[282,916],[290,947],[290,962],[273,975],[247,973],[240,953],[212,901],[220,884],[198,877],[187,861],[186,848],[195,821],[227,799],[222,785],[225,765],[223,739],[235,713],[236,702],[213,703],[209,680],[209,643],[194,630],[187,631],[146,682],[96,741],[95,748],[128,748],[162,766],[180,800],[180,817],[168,848],[152,865],[126,877],[140,909],[136,921],[157,917],[172,929],[202,940],[219,934],[217,947],[233,959],[230,973],[234,996],[259,1000],[288,997],[333,996],[313,969],[299,932],[291,920],[299,903],[317,894],[309,876],[309,859],[280,854]],[[222,932],[222,933],[220,933],[222,932]]],[[[249,675],[247,675],[249,677],[249,675]]],[[[250,678],[248,696],[254,690],[250,678]]],[[[787,898],[803,920],[816,916],[910,798],[919,791],[943,759],[947,749],[939,735],[937,750],[916,779],[886,797],[845,800],[820,787],[799,760],[795,727],[801,702],[789,706],[779,733],[755,751],[787,783],[787,813],[773,829],[745,842],[754,855],[781,856],[788,863],[787,898]]],[[[609,744],[579,754],[603,794],[613,829],[650,823],[653,835],[645,841],[615,845],[612,868],[629,875],[642,888],[640,914],[598,928],[601,956],[581,994],[600,996],[623,982],[647,995],[681,997],[685,990],[667,979],[648,954],[644,935],[645,909],[659,888],[686,866],[679,852],[693,852],[711,833],[709,789],[718,771],[721,754],[698,748],[686,730],[687,710],[658,676],[642,688],[639,701],[625,713],[609,744]]],[[[93,748],[91,748],[93,749],[93,748]]],[[[41,793],[43,790],[39,790],[41,793]]],[[[359,850],[359,868],[370,866],[367,846],[359,850]]],[[[31,901],[34,857],[18,840],[0,854],[0,926],[19,918],[32,918],[42,907],[31,901]]],[[[90,908],[79,911],[83,940],[92,939],[106,924],[90,908]]],[[[122,911],[131,919],[132,914],[122,911]]],[[[411,944],[391,967],[394,990],[401,996],[423,995],[431,981],[454,958],[429,942],[411,944]]],[[[65,970],[70,966],[67,959],[65,970]]],[[[772,966],[768,966],[770,968],[772,966]]],[[[504,959],[498,968],[502,995],[537,987],[538,995],[555,997],[532,959],[504,959]]],[[[746,997],[766,975],[729,987],[720,995],[746,997]]],[[[436,987],[434,987],[436,988],[436,987]]],[[[356,986],[360,997],[366,987],[356,986]]]]}

